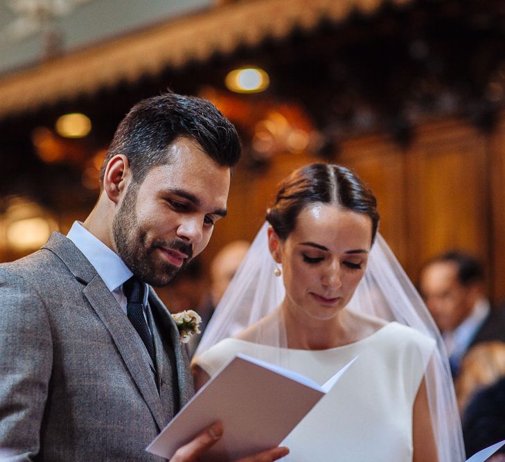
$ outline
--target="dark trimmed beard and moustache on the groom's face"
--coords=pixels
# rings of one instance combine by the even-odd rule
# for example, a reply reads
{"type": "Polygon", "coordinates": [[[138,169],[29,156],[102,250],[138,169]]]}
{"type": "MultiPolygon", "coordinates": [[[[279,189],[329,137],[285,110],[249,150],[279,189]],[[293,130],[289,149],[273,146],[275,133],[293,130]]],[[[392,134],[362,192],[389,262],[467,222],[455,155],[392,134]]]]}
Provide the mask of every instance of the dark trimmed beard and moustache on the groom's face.
{"type": "Polygon", "coordinates": [[[134,276],[154,287],[163,287],[191,261],[193,246],[179,238],[148,242],[147,231],[139,225],[136,214],[137,192],[138,186],[134,183],[128,186],[123,203],[112,220],[112,236],[118,255],[134,276]],[[177,267],[157,256],[159,248],[179,250],[188,258],[177,267]]]}

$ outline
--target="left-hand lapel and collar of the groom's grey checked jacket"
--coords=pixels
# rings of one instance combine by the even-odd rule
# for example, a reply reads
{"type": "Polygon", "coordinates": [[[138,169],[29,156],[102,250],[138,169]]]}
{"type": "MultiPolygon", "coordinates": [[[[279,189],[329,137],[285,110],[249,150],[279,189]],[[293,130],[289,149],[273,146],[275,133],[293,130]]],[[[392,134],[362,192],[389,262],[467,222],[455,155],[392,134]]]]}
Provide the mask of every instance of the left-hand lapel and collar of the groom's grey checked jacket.
{"type": "Polygon", "coordinates": [[[150,365],[149,353],[127,317],[121,312],[116,299],[109,291],[96,269],[79,249],[60,233],[53,233],[44,248],[56,254],[71,273],[85,285],[83,294],[109,331],[128,371],[147,403],[159,429],[166,425],[156,382],[150,365]]]}

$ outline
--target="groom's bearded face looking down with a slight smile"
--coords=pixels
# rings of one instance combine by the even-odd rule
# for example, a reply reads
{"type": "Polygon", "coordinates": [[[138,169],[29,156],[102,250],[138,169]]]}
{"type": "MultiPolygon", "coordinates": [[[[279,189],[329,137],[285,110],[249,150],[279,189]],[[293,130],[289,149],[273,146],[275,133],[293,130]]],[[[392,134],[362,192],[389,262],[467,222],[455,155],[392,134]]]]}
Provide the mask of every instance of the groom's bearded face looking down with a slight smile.
{"type": "Polygon", "coordinates": [[[131,182],[112,231],[119,256],[141,280],[163,286],[200,254],[213,226],[226,215],[230,170],[200,145],[179,138],[172,161],[131,182]]]}

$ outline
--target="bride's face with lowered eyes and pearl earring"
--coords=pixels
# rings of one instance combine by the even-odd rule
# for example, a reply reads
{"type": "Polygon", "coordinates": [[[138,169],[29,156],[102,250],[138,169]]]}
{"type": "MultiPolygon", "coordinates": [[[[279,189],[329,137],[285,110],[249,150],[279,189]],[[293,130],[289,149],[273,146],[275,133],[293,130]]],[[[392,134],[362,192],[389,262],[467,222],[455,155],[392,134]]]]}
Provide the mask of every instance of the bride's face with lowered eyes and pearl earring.
{"type": "Polygon", "coordinates": [[[282,264],[284,308],[297,319],[331,319],[351,300],[371,249],[371,218],[334,204],[303,208],[281,241],[269,231],[269,247],[282,264]]]}

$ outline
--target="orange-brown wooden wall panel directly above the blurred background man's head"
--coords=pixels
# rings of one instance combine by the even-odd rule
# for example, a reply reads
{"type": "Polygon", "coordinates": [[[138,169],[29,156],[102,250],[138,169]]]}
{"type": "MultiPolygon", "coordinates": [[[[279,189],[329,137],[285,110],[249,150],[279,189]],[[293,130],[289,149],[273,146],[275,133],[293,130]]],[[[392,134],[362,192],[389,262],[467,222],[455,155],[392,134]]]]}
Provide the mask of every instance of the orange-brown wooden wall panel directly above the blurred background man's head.
{"type": "Polygon", "coordinates": [[[486,137],[466,123],[420,127],[407,152],[409,269],[427,258],[464,249],[486,260],[488,193],[486,137]]]}

